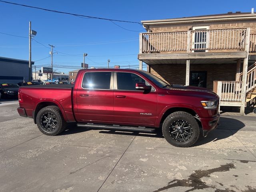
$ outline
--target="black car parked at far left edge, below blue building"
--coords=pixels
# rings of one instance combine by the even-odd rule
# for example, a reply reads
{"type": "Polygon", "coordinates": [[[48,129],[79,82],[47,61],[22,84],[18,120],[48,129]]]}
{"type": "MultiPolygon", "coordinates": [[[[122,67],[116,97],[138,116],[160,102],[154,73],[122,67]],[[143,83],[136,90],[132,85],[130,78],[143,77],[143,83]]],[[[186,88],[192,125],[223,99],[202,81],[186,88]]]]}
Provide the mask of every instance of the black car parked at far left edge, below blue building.
{"type": "Polygon", "coordinates": [[[3,99],[6,98],[18,98],[19,86],[14,83],[1,83],[0,92],[3,99]]]}

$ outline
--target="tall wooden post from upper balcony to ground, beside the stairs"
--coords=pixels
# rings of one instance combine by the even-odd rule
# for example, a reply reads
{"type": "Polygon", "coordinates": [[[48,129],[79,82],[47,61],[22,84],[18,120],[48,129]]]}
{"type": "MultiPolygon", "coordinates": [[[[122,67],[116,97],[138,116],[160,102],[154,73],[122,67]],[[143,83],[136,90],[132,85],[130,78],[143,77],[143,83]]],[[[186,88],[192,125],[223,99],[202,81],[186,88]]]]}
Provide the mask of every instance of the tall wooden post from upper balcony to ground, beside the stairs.
{"type": "Polygon", "coordinates": [[[249,48],[250,48],[250,28],[246,29],[246,36],[245,36],[245,51],[247,57],[244,58],[244,65],[243,65],[243,78],[242,78],[242,90],[241,90],[241,108],[240,108],[240,115],[244,114],[244,108],[246,106],[246,83],[247,83],[247,70],[248,70],[248,56],[249,56],[249,48]]]}

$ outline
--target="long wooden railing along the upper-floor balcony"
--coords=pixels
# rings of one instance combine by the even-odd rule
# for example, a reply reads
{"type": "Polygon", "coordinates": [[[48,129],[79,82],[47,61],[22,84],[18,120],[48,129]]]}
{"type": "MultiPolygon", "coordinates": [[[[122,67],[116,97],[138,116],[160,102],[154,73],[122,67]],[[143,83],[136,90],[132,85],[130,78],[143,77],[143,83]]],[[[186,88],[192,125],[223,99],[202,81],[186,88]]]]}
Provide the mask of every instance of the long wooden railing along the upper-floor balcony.
{"type": "Polygon", "coordinates": [[[140,53],[244,51],[245,36],[246,28],[140,33],[140,53]]]}

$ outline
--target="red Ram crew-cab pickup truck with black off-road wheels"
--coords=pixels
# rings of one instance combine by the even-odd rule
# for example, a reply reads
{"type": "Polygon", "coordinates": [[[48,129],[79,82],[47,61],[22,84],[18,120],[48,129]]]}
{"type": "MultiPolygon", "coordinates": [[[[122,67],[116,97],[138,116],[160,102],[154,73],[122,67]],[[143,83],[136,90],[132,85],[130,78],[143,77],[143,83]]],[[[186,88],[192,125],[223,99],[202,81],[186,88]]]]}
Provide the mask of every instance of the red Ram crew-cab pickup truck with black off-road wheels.
{"type": "Polygon", "coordinates": [[[169,85],[142,70],[80,70],[74,85],[21,87],[20,116],[34,118],[50,136],[78,127],[154,132],[162,128],[166,140],[192,146],[200,132],[217,127],[219,97],[195,86],[169,85]]]}

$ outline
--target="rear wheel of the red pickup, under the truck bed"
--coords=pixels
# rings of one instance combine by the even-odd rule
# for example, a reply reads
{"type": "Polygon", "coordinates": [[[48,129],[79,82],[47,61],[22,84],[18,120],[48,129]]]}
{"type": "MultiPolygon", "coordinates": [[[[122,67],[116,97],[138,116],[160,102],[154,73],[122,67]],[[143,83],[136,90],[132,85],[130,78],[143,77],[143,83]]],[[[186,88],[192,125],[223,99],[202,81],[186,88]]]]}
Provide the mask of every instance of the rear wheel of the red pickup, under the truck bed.
{"type": "Polygon", "coordinates": [[[36,116],[38,129],[45,135],[60,134],[66,128],[66,122],[57,106],[42,108],[36,116]]]}

